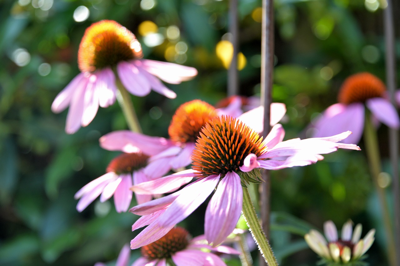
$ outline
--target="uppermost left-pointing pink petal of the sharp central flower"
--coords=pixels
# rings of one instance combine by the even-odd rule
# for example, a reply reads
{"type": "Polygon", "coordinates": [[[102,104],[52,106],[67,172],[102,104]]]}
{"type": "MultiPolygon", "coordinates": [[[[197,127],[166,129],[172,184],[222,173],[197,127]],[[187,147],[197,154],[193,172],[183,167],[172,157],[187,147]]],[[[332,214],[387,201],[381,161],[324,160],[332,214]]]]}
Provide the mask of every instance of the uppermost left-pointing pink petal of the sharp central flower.
{"type": "Polygon", "coordinates": [[[179,189],[192,181],[193,177],[197,174],[192,169],[180,171],[178,173],[161,177],[148,182],[140,183],[133,186],[131,189],[135,193],[144,195],[164,194],[179,189]]]}

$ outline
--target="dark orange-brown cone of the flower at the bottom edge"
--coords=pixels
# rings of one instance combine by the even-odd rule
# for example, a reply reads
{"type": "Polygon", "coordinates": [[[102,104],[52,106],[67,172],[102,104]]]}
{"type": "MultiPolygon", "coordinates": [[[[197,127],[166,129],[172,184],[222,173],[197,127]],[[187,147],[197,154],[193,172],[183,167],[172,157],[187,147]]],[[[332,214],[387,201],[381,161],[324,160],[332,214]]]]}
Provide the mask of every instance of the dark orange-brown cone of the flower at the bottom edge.
{"type": "Polygon", "coordinates": [[[189,244],[190,236],[188,231],[182,227],[172,228],[165,236],[157,241],[142,246],[142,256],[149,260],[171,258],[180,250],[184,250],[189,244]]]}

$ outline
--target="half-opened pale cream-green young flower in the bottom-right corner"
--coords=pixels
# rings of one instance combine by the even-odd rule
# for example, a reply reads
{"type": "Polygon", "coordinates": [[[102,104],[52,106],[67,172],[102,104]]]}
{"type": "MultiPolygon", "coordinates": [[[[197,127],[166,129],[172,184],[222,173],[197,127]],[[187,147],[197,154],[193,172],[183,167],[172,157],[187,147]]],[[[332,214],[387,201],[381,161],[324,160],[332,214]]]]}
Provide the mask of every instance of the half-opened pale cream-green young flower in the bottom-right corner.
{"type": "Polygon", "coordinates": [[[357,224],[352,228],[352,222],[348,221],[343,225],[341,237],[338,237],[338,230],[332,221],[324,223],[324,236],[317,230],[310,230],[304,236],[308,246],[326,260],[348,264],[355,262],[367,252],[374,242],[375,229],[371,229],[363,239],[360,239],[362,225],[357,224]]]}

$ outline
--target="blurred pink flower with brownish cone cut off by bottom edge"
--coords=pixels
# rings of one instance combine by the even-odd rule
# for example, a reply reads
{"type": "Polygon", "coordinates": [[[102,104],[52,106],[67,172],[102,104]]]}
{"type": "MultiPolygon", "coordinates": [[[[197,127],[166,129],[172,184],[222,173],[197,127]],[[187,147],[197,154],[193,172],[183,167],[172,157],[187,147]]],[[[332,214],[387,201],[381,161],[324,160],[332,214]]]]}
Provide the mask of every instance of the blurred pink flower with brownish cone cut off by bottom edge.
{"type": "Polygon", "coordinates": [[[176,227],[157,241],[143,246],[142,257],[132,266],[166,265],[168,260],[172,260],[176,266],[226,265],[220,257],[210,251],[240,254],[229,246],[208,245],[204,235],[191,239],[184,228],[176,227]]]}

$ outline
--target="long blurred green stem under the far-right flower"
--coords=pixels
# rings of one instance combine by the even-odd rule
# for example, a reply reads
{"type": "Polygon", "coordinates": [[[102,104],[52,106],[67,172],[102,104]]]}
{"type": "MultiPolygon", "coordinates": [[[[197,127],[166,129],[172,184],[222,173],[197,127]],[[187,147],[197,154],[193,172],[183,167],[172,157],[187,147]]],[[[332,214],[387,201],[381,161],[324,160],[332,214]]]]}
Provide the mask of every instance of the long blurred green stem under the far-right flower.
{"type": "Polygon", "coordinates": [[[390,265],[395,265],[396,252],[394,250],[394,238],[392,222],[389,214],[388,202],[386,200],[385,189],[380,187],[378,184],[379,174],[382,172],[378,148],[378,137],[374,125],[372,125],[371,114],[366,112],[365,116],[365,127],[364,127],[364,143],[366,147],[366,153],[368,157],[368,165],[370,166],[371,175],[373,177],[373,183],[378,193],[379,203],[382,209],[382,218],[386,231],[386,244],[388,248],[388,256],[390,265]]]}

